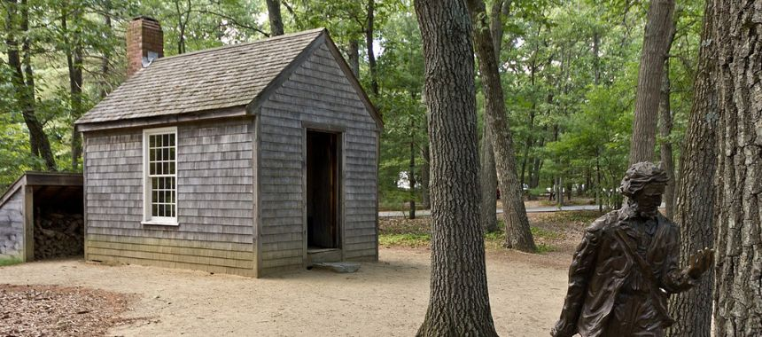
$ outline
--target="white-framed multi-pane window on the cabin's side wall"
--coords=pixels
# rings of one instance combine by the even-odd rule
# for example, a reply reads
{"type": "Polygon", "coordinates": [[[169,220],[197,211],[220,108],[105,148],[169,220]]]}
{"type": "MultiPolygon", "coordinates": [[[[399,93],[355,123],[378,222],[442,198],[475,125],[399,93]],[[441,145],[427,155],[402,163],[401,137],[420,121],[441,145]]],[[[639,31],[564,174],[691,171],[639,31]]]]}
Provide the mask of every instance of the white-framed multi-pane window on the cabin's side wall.
{"type": "Polygon", "coordinates": [[[177,225],[177,128],[143,130],[144,224],[177,225]]]}

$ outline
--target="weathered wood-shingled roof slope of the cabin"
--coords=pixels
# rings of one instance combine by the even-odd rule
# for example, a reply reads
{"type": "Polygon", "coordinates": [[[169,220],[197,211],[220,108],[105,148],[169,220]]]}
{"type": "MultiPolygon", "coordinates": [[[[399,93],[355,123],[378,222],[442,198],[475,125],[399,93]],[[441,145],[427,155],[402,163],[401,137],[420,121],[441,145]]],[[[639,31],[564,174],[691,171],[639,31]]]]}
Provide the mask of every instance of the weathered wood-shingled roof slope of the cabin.
{"type": "Polygon", "coordinates": [[[246,106],[323,34],[325,29],[313,29],[156,59],[76,124],[246,106]]]}

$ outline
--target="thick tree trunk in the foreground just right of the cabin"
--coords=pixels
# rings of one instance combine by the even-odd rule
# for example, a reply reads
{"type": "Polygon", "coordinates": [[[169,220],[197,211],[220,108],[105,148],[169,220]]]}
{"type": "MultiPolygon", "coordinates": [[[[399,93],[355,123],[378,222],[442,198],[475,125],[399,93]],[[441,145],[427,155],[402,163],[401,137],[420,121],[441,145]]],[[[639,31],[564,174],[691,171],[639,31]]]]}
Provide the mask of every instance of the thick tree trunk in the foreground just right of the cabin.
{"type": "Polygon", "coordinates": [[[460,0],[416,0],[432,150],[432,281],[418,336],[497,336],[489,307],[470,20],[460,0]]]}

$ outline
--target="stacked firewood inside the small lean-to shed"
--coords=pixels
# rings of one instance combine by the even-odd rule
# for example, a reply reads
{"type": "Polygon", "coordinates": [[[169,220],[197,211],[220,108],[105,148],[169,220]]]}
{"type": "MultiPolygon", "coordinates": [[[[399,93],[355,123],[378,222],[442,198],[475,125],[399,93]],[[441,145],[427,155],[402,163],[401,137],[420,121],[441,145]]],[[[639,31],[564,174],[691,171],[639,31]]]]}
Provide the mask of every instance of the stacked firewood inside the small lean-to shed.
{"type": "Polygon", "coordinates": [[[35,259],[82,255],[82,215],[40,212],[35,220],[35,259]]]}

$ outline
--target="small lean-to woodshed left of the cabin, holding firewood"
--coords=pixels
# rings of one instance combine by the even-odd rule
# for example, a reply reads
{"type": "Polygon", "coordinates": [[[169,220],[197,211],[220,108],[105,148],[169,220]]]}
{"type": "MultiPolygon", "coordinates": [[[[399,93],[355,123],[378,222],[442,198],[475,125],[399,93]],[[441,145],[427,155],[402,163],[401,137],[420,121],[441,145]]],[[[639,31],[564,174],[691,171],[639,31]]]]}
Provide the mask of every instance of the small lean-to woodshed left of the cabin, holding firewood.
{"type": "Polygon", "coordinates": [[[0,196],[0,259],[81,255],[82,230],[81,174],[27,172],[0,196]]]}

